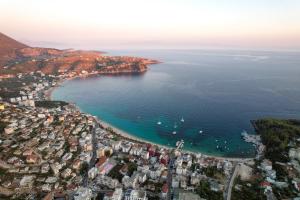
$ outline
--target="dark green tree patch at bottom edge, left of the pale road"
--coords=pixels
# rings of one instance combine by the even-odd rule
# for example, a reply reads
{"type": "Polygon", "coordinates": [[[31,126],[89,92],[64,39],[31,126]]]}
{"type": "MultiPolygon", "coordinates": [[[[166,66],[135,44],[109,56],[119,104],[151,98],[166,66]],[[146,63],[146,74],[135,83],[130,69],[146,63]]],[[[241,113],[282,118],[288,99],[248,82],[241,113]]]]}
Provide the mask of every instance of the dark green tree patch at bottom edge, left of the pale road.
{"type": "Polygon", "coordinates": [[[217,200],[223,199],[222,192],[215,192],[210,189],[210,184],[208,181],[200,181],[200,184],[196,188],[196,193],[204,199],[207,200],[217,200]]]}

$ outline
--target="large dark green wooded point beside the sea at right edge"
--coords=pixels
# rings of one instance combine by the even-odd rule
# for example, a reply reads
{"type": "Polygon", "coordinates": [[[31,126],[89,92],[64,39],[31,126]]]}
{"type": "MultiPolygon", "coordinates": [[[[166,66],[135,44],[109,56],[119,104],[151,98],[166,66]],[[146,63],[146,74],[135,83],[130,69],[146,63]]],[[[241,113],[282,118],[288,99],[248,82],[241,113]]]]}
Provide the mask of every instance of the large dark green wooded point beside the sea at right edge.
{"type": "Polygon", "coordinates": [[[272,162],[288,162],[288,144],[300,137],[300,121],[261,119],[253,124],[266,145],[265,157],[272,162]]]}

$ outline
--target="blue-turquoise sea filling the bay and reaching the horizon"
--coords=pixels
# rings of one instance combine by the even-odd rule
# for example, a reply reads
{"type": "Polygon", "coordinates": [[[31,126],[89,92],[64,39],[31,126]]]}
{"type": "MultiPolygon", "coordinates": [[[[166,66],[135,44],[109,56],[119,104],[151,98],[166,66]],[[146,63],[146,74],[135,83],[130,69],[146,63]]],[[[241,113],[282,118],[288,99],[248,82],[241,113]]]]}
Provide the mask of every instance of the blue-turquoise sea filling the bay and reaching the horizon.
{"type": "Polygon", "coordinates": [[[151,65],[143,75],[67,81],[53,92],[53,99],[74,102],[81,110],[152,142],[174,146],[184,139],[185,149],[232,157],[254,155],[254,148],[241,139],[243,130],[253,133],[250,120],[300,118],[299,53],[143,50],[110,54],[163,63],[151,65]]]}

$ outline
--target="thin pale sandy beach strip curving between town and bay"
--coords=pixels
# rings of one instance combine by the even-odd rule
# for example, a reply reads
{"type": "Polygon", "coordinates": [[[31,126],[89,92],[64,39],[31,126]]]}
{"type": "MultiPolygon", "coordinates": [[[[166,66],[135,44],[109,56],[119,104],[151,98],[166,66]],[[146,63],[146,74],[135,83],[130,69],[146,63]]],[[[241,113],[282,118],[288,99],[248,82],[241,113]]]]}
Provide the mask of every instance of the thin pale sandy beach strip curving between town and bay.
{"type": "MultiPolygon", "coordinates": [[[[103,74],[97,74],[97,76],[101,76],[101,75],[103,75],[103,74]]],[[[43,92],[45,100],[52,101],[52,98],[51,98],[52,92],[56,88],[60,87],[61,84],[64,83],[65,81],[69,81],[69,80],[72,80],[72,79],[75,79],[75,78],[86,78],[86,77],[89,77],[89,76],[84,76],[84,77],[75,76],[75,77],[71,77],[71,78],[62,78],[62,79],[60,79],[59,82],[55,86],[51,86],[49,89],[47,89],[43,92]]],[[[70,103],[70,102],[67,102],[67,103],[70,103]]],[[[142,139],[142,138],[139,138],[137,136],[131,135],[130,133],[128,133],[128,132],[126,132],[126,131],[124,131],[120,128],[117,128],[116,126],[114,126],[114,125],[112,125],[112,124],[110,124],[106,121],[103,121],[103,120],[99,119],[97,116],[94,116],[90,113],[83,112],[76,104],[74,106],[76,107],[77,110],[79,110],[79,112],[84,113],[84,114],[89,114],[89,115],[93,116],[93,118],[97,121],[97,123],[99,125],[103,126],[105,129],[109,127],[115,132],[116,135],[121,136],[125,139],[136,141],[136,142],[139,142],[139,143],[152,144],[152,145],[158,146],[160,148],[168,149],[168,150],[176,148],[176,147],[172,147],[172,146],[165,146],[165,145],[162,145],[162,144],[157,144],[155,142],[148,141],[146,139],[142,139]]],[[[188,153],[188,154],[192,154],[192,155],[201,155],[205,158],[214,158],[214,159],[218,159],[218,160],[228,160],[228,161],[236,161],[236,162],[252,161],[255,158],[255,157],[240,158],[240,157],[215,156],[215,155],[204,154],[202,152],[193,152],[193,151],[185,150],[185,149],[182,149],[181,151],[183,153],[188,153]]]]}

